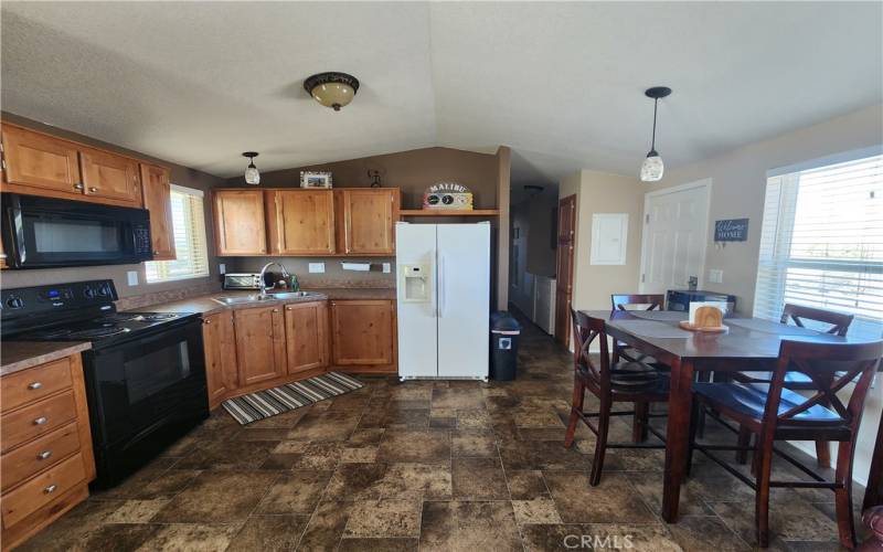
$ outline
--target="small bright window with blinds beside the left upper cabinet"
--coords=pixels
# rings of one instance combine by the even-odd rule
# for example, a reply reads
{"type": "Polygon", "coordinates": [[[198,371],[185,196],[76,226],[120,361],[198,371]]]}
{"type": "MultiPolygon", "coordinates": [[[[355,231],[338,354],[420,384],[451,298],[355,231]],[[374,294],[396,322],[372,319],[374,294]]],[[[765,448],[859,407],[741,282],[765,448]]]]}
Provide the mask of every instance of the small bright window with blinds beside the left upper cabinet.
{"type": "Polygon", "coordinates": [[[209,276],[202,192],[174,184],[171,188],[175,259],[145,263],[148,284],[209,276]]]}

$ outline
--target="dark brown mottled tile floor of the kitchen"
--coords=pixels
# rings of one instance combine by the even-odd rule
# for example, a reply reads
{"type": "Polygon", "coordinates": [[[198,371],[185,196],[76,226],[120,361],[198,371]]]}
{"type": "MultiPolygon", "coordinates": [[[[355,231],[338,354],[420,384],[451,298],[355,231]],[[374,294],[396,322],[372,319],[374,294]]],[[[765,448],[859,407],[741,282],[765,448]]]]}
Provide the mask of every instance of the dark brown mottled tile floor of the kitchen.
{"type": "MultiPolygon", "coordinates": [[[[752,549],[753,491],[701,455],[677,524],[659,518],[661,450],[611,450],[588,486],[587,429],[562,447],[570,362],[528,326],[514,382],[366,379],[247,427],[219,410],[21,550],[546,551],[581,535],[598,548],[752,549]]],[[[627,420],[611,433],[627,439],[627,420]]],[[[833,493],[774,496],[772,550],[839,548],[833,493]]]]}

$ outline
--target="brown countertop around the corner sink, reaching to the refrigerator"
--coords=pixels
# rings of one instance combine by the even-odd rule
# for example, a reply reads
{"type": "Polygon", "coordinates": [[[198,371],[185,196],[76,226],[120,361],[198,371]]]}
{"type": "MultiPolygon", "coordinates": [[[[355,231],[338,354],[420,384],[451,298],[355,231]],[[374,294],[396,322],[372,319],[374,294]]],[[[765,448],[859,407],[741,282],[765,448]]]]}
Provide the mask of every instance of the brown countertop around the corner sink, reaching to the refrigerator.
{"type": "Polygon", "coordinates": [[[310,297],[292,297],[283,300],[264,300],[254,302],[242,302],[238,305],[224,305],[214,300],[216,297],[232,297],[240,295],[251,295],[251,291],[220,291],[217,294],[201,295],[172,302],[149,305],[135,310],[147,312],[198,312],[203,316],[213,315],[223,310],[240,310],[248,308],[266,307],[270,305],[289,305],[292,302],[310,302],[325,300],[344,299],[395,299],[394,288],[312,288],[305,291],[315,291],[317,295],[310,297]]]}

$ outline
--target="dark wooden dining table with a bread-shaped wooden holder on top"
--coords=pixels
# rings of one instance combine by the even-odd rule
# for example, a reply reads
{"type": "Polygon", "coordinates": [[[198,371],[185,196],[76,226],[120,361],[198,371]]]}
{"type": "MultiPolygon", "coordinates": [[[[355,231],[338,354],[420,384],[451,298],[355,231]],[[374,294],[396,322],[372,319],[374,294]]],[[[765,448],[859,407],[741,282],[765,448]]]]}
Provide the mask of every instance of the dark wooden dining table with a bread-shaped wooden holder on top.
{"type": "MultiPolygon", "coordinates": [[[[699,372],[773,371],[779,347],[786,340],[825,343],[860,342],[851,337],[822,333],[808,328],[788,326],[751,317],[724,319],[725,331],[690,331],[680,327],[688,312],[673,310],[582,310],[605,321],[607,333],[650,354],[671,368],[666,428],[666,466],[662,488],[662,519],[678,520],[681,484],[687,474],[689,453],[692,384],[699,372]]],[[[883,431],[883,425],[881,426],[883,431]]],[[[883,436],[877,437],[877,450],[869,475],[869,500],[883,498],[883,436]],[[875,491],[874,491],[875,488],[875,491]],[[870,496],[875,492],[874,496],[870,496]]]]}

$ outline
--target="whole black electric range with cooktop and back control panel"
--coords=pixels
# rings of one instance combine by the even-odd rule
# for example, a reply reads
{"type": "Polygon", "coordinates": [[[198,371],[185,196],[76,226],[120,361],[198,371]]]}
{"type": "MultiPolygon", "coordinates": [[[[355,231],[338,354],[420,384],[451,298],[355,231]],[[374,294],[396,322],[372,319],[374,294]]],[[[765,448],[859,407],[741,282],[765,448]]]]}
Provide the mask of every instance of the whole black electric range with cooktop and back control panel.
{"type": "Polygon", "coordinates": [[[113,280],[0,291],[2,338],[91,341],[83,371],[96,487],[109,487],[209,416],[202,319],[117,312],[113,280]]]}

